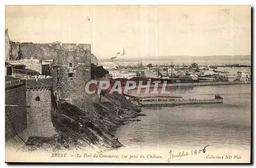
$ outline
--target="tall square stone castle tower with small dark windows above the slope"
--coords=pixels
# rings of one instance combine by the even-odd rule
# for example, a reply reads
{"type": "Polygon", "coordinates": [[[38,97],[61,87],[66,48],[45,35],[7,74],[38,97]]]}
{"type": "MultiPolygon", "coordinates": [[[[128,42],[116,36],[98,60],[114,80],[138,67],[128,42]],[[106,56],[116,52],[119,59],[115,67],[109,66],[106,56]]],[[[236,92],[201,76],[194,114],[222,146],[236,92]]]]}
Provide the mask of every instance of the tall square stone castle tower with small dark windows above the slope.
{"type": "Polygon", "coordinates": [[[58,97],[86,109],[85,88],[91,80],[91,45],[64,43],[58,52],[58,97]]]}

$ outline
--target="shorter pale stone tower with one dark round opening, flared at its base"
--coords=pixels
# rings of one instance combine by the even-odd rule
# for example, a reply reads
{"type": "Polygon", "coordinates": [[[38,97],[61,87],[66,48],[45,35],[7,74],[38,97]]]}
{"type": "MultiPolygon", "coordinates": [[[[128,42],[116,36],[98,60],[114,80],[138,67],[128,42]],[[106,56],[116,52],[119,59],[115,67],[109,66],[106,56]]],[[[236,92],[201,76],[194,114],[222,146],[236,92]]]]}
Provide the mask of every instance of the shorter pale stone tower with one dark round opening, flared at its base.
{"type": "Polygon", "coordinates": [[[51,118],[52,77],[27,79],[27,121],[30,136],[51,137],[57,133],[51,118]]]}

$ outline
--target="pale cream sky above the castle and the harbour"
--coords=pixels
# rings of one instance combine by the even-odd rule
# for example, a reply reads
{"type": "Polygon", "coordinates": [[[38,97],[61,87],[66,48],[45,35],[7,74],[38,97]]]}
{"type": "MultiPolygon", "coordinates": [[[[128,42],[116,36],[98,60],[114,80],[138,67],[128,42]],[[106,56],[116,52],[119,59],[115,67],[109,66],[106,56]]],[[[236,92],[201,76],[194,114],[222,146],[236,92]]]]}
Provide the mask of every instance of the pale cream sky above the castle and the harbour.
{"type": "Polygon", "coordinates": [[[6,6],[15,42],[89,43],[97,58],[250,55],[250,6],[6,6]]]}

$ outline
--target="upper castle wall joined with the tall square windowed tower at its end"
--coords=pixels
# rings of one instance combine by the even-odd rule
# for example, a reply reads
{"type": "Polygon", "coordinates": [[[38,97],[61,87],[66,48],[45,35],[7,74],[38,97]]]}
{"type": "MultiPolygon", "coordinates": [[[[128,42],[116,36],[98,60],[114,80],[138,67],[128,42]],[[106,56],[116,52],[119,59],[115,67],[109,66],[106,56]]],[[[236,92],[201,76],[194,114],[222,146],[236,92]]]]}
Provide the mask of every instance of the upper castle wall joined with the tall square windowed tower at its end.
{"type": "MultiPolygon", "coordinates": [[[[11,60],[21,59],[56,60],[57,73],[52,73],[61,99],[86,97],[84,88],[91,80],[91,45],[75,43],[12,43],[11,60]],[[69,74],[70,73],[70,74],[69,74]],[[72,74],[71,77],[69,77],[72,74]],[[57,80],[57,81],[56,81],[57,80]]],[[[53,86],[56,90],[56,86],[53,86]]]]}

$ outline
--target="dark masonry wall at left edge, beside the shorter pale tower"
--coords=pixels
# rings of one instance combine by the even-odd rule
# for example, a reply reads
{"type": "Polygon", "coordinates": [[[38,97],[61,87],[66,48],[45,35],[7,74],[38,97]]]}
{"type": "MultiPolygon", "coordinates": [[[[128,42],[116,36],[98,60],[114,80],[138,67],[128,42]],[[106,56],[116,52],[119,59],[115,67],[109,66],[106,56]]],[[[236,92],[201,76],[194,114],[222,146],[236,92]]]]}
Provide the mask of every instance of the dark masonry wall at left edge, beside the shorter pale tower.
{"type": "MultiPolygon", "coordinates": [[[[25,80],[6,82],[5,103],[26,106],[25,80]]],[[[5,106],[5,141],[27,128],[27,108],[5,106]],[[13,127],[13,126],[14,127],[13,127]]]]}

